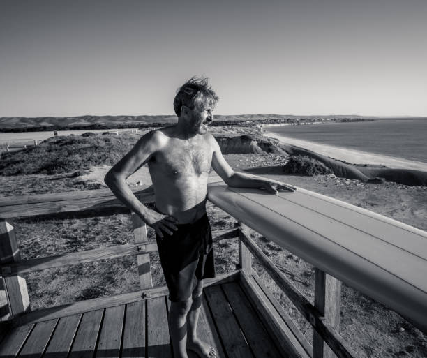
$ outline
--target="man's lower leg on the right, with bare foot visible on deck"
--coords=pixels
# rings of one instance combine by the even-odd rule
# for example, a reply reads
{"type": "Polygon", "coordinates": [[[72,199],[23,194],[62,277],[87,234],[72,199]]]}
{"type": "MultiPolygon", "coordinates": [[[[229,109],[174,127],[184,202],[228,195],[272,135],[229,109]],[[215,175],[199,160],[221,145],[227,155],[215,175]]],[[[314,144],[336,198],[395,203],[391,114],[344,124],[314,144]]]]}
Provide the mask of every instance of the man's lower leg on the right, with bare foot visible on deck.
{"type": "Polygon", "coordinates": [[[200,280],[193,290],[193,304],[188,312],[188,349],[194,350],[200,357],[214,358],[216,357],[215,348],[203,341],[200,341],[200,338],[197,337],[197,322],[199,321],[200,308],[202,307],[202,292],[203,281],[200,280]]]}

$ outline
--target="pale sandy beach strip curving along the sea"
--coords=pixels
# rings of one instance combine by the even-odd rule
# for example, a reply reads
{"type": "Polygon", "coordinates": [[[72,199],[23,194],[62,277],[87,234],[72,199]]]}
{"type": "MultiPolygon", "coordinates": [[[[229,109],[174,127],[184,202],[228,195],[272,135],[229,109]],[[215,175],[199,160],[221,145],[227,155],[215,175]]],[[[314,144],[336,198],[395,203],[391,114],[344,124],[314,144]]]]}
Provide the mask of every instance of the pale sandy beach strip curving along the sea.
{"type": "Polygon", "coordinates": [[[329,156],[339,161],[345,161],[356,165],[384,165],[393,169],[411,169],[427,172],[427,163],[419,161],[410,161],[405,158],[385,156],[383,154],[375,154],[367,151],[358,151],[356,149],[347,149],[343,147],[335,147],[328,144],[318,144],[309,142],[308,140],[298,140],[291,137],[278,135],[277,133],[262,131],[262,135],[269,138],[274,138],[284,144],[294,145],[308,149],[317,154],[329,156]]]}

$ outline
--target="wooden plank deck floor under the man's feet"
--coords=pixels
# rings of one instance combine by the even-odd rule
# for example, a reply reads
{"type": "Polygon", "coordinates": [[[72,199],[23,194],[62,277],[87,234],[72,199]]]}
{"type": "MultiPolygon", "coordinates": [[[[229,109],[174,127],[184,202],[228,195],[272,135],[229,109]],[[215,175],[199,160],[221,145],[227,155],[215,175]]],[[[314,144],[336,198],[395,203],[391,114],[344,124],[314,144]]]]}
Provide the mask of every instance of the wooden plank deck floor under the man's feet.
{"type": "MultiPolygon", "coordinates": [[[[163,296],[15,327],[0,342],[0,358],[172,357],[169,307],[163,296]]],[[[197,331],[218,358],[287,356],[237,281],[204,290],[197,331]]]]}

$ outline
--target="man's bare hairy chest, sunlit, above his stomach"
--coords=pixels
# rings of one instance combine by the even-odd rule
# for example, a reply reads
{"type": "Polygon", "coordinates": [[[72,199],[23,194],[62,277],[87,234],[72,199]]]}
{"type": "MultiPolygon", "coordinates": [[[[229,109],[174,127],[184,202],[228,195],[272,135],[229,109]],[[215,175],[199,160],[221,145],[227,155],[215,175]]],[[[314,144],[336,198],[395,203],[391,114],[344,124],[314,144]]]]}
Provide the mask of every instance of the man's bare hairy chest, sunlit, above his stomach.
{"type": "Polygon", "coordinates": [[[211,169],[212,150],[207,143],[171,142],[152,158],[153,169],[173,177],[201,175],[211,169]]]}

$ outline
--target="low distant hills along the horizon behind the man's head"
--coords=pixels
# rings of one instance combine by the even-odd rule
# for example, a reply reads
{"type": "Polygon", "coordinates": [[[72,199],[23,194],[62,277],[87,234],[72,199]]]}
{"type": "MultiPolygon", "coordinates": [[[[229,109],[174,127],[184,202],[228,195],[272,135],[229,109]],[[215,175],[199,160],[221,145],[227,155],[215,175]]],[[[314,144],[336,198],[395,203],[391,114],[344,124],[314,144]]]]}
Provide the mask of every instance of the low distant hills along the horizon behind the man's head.
{"type": "MultiPolygon", "coordinates": [[[[368,117],[355,115],[337,116],[294,116],[290,114],[238,114],[218,115],[216,121],[286,121],[297,119],[367,119],[368,117]]],[[[158,116],[78,116],[78,117],[1,117],[0,130],[10,129],[54,129],[76,128],[91,126],[92,128],[123,128],[123,126],[142,126],[151,124],[167,124],[177,121],[175,115],[158,116]]]]}

